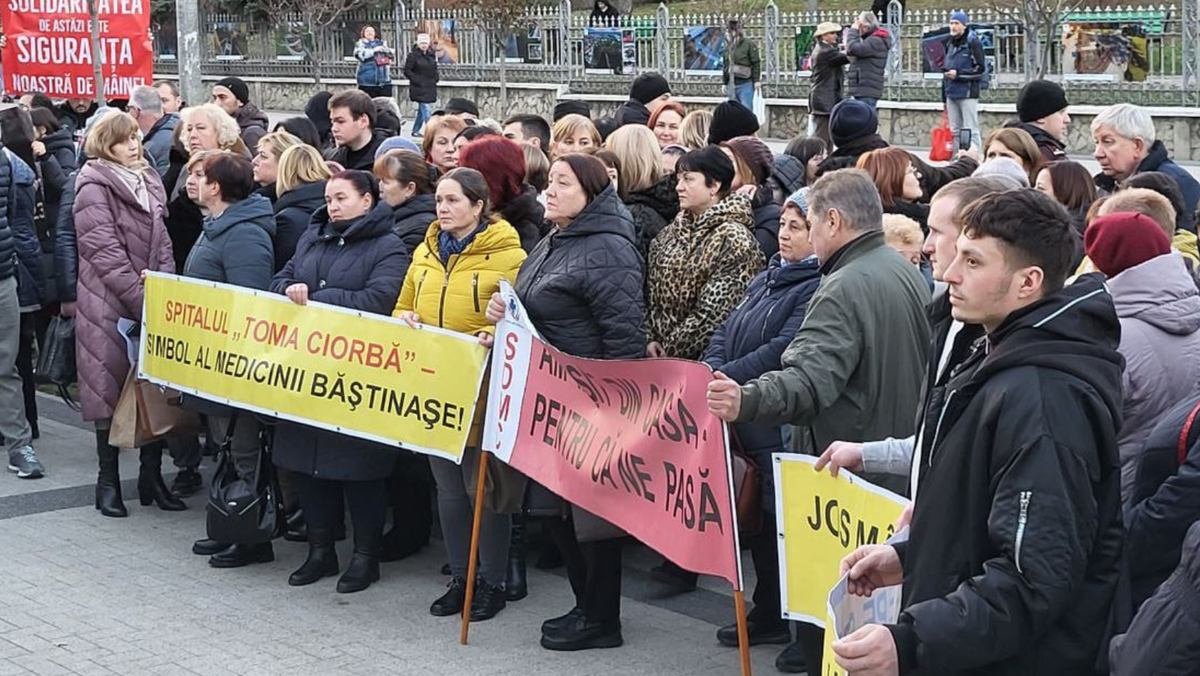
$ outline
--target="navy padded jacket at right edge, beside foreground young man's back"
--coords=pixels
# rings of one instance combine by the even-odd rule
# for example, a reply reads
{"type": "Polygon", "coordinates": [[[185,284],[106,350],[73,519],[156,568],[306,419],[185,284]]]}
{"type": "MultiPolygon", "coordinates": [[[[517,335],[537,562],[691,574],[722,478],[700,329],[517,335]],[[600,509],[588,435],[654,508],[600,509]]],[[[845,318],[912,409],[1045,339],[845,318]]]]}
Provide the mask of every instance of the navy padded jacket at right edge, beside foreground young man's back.
{"type": "Polygon", "coordinates": [[[1200,424],[1192,418],[1200,393],[1159,418],[1134,457],[1134,484],[1126,510],[1126,558],[1133,610],[1146,602],[1180,562],[1188,527],[1200,521],[1200,424]],[[1188,427],[1188,423],[1192,426],[1188,427]],[[1184,430],[1187,433],[1184,435],[1184,430]]]}

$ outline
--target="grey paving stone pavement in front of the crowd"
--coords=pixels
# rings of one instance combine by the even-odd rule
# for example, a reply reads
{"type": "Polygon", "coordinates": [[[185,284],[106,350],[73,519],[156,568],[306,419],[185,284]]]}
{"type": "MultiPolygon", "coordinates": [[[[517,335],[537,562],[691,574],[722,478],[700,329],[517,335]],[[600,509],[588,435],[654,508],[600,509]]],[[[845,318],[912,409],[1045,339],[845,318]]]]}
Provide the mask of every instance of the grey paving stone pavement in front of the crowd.
{"type": "MultiPolygon", "coordinates": [[[[288,587],[302,544],[276,542],[270,564],[210,568],[190,551],[204,531],[202,496],[168,513],[140,507],[126,484],[130,518],[100,516],[90,430],[50,397],[40,403],[47,477],[0,477],[0,676],[739,672],[737,651],[714,636],[733,617],[727,585],[706,579],[696,592],[664,596],[644,573],[658,561],[646,550],[626,561],[625,646],[581,653],[538,645],[541,622],[572,599],[560,574],[533,569],[529,597],[473,624],[470,645],[458,645],[458,620],[427,610],[446,582],[437,540],[384,564],[383,579],[358,594],[335,593],[336,578],[288,587]]],[[[136,455],[122,453],[122,477],[136,472],[136,455]]],[[[349,546],[340,544],[343,566],[349,546]]],[[[754,648],[756,671],[774,674],[778,652],[754,648]]]]}

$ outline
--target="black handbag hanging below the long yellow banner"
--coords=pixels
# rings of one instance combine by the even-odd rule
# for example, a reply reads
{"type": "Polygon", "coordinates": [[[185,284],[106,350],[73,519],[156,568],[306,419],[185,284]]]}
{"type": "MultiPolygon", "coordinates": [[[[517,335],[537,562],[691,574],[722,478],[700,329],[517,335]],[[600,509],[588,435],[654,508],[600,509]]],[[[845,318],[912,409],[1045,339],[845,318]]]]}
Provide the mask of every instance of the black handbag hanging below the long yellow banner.
{"type": "Polygon", "coordinates": [[[239,477],[233,462],[233,431],[238,413],[229,420],[217,449],[217,469],[209,489],[209,538],[220,543],[262,544],[283,533],[283,502],[270,448],[259,442],[253,477],[239,477]]]}

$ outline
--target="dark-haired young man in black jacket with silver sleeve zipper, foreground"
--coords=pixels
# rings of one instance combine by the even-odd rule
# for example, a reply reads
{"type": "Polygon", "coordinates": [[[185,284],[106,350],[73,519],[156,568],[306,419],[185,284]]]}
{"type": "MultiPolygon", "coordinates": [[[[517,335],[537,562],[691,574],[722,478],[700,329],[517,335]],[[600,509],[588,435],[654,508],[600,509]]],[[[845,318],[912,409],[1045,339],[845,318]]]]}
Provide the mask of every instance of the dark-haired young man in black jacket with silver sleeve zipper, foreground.
{"type": "Polygon", "coordinates": [[[904,582],[895,624],[834,644],[856,676],[1090,672],[1121,557],[1120,324],[1102,280],[1063,287],[1078,237],[1033,190],[964,215],[952,312],[986,331],[924,412],[907,543],[842,562],[852,593],[904,582]]]}

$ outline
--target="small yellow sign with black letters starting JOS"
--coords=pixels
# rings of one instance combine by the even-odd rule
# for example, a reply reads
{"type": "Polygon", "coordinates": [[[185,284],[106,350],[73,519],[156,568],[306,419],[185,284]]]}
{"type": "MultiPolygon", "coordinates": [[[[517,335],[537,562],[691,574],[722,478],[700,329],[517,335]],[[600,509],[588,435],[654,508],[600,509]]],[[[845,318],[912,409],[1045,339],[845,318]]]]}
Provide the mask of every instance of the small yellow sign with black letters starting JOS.
{"type": "Polygon", "coordinates": [[[775,454],[784,618],[826,626],[829,590],[841,560],[862,545],[883,544],[907,501],[841,471],[814,468],[816,457],[775,454]]]}

